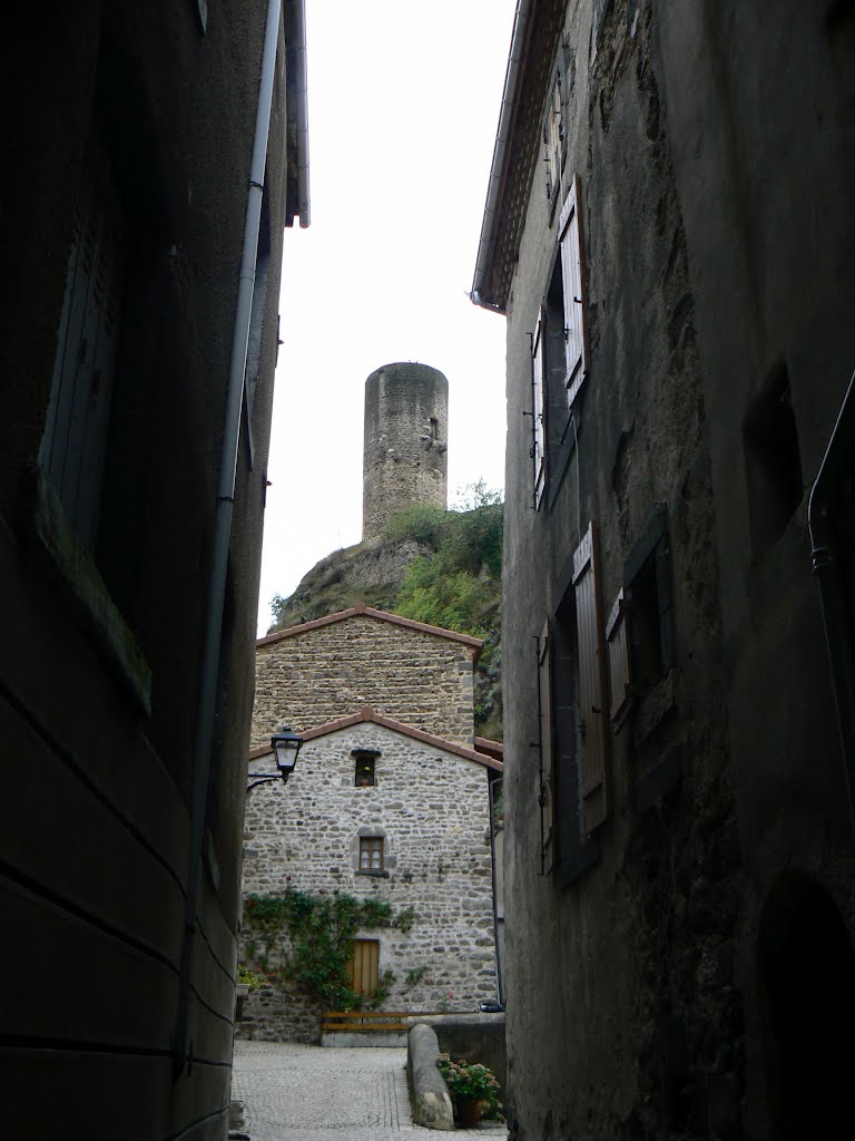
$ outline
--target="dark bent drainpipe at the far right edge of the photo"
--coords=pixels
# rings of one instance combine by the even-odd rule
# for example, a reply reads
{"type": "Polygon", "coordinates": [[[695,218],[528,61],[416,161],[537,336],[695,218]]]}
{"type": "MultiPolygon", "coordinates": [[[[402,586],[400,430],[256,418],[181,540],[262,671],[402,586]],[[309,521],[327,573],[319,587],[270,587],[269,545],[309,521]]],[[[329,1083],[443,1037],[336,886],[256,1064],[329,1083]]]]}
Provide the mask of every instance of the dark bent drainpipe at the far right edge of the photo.
{"type": "Polygon", "coordinates": [[[837,709],[837,727],[844,754],[849,820],[855,833],[855,662],[849,615],[840,575],[840,557],[834,537],[837,492],[845,468],[852,462],[855,443],[855,374],[849,380],[837,423],[825,450],[820,474],[811,489],[807,525],[811,531],[811,561],[820,588],[822,622],[829,649],[831,683],[837,709]]]}

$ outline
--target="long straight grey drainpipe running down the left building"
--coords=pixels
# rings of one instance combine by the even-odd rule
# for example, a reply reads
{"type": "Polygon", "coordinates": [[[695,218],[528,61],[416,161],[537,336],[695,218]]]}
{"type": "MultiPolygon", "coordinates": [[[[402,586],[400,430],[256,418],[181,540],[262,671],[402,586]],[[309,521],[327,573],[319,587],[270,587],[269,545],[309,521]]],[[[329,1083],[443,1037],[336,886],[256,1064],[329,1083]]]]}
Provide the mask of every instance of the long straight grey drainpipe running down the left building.
{"type": "Polygon", "coordinates": [[[217,710],[217,680],[220,667],[220,639],[222,609],[226,598],[231,513],[235,502],[237,451],[241,440],[241,408],[243,404],[246,346],[250,335],[250,313],[255,285],[255,258],[259,245],[261,196],[264,186],[267,140],[270,130],[270,105],[276,71],[276,48],[279,38],[282,0],[268,0],[264,48],[261,57],[261,81],[255,112],[255,135],[250,162],[250,186],[246,197],[243,253],[237,286],[237,305],[231,337],[228,387],[226,390],[226,423],[220,450],[220,469],[217,485],[214,540],[209,581],[207,613],[205,617],[204,650],[196,711],[196,734],[193,754],[193,786],[190,791],[190,848],[185,904],[185,930],[181,947],[178,1011],[176,1018],[174,1054],[180,1074],[189,1059],[192,1044],[187,1043],[190,1006],[190,976],[193,948],[197,931],[196,908],[202,873],[202,849],[205,836],[209,783],[211,776],[211,746],[217,710]]]}

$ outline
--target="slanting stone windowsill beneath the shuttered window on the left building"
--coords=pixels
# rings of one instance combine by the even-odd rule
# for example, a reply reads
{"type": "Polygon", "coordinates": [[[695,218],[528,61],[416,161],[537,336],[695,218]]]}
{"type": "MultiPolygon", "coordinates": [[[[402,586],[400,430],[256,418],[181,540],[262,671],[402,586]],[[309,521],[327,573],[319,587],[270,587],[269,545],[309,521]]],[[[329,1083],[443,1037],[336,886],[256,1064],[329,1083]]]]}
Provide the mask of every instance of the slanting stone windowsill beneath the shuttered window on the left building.
{"type": "Polygon", "coordinates": [[[72,532],[59,497],[41,468],[32,483],[34,537],[55,576],[68,591],[81,624],[139,710],[152,712],[152,671],[109,596],[91,556],[72,532]]]}

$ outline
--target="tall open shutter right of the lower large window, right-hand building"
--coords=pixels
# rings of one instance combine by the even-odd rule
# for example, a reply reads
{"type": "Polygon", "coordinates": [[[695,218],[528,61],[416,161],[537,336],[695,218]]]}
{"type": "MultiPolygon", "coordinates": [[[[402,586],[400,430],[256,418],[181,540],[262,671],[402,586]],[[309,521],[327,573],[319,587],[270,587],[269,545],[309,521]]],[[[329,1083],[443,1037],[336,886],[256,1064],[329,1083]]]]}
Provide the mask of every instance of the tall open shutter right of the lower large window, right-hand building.
{"type": "Polygon", "coordinates": [[[594,524],[573,555],[576,630],[579,645],[579,713],[583,730],[580,793],[583,833],[609,815],[603,685],[602,602],[594,524]]]}

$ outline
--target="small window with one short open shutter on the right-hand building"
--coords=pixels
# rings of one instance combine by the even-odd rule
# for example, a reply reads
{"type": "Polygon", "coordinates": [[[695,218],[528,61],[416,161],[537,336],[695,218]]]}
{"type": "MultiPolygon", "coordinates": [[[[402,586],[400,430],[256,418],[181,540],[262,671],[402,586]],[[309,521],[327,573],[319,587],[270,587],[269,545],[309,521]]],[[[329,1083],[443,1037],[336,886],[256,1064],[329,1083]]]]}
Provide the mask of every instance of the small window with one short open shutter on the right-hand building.
{"type": "Polygon", "coordinates": [[[651,512],[624,564],[624,586],[605,626],[611,682],[610,715],[617,728],[633,702],[643,699],[675,663],[670,542],[665,503],[651,512]]]}

